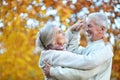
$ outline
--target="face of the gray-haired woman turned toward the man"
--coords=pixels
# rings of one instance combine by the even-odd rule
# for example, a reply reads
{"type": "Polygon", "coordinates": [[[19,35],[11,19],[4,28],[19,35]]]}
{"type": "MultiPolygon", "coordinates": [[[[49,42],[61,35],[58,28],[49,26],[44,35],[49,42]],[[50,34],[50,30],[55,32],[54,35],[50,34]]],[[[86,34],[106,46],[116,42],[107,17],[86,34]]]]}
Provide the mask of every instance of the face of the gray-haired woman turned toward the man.
{"type": "Polygon", "coordinates": [[[63,46],[67,42],[65,33],[59,27],[55,27],[54,31],[54,44],[63,46]]]}

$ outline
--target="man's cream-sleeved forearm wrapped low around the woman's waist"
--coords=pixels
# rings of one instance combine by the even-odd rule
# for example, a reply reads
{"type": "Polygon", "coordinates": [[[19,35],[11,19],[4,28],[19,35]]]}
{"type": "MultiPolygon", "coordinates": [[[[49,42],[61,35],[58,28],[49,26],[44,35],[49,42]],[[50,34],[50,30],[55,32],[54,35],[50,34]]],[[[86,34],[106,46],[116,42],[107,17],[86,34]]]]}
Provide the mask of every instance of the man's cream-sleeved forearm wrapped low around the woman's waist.
{"type": "Polygon", "coordinates": [[[72,68],[55,67],[51,68],[50,74],[59,80],[85,80],[96,75],[96,72],[94,72],[94,70],[77,70],[72,68]]]}

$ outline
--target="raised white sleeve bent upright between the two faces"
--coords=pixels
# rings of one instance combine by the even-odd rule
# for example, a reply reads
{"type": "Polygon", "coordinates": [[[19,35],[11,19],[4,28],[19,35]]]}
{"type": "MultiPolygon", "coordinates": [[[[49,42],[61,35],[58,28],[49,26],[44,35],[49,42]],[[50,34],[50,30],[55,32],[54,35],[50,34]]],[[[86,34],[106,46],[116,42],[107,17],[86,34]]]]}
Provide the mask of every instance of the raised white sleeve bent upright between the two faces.
{"type": "Polygon", "coordinates": [[[74,52],[75,54],[81,54],[81,51],[84,47],[79,46],[80,43],[80,33],[75,31],[70,31],[69,29],[66,31],[66,37],[68,39],[68,43],[66,44],[66,50],[70,52],[74,52]]]}

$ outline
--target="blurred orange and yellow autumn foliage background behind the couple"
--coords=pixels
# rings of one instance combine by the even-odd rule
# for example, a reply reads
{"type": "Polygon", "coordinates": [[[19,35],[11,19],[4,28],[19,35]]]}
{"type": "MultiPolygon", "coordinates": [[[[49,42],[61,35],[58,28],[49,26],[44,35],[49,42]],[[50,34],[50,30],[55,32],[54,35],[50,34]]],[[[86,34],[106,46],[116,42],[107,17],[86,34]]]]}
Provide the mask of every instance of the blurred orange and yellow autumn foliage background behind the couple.
{"type": "MultiPolygon", "coordinates": [[[[52,22],[64,31],[92,12],[109,18],[114,47],[111,80],[120,80],[120,0],[0,0],[0,80],[44,80],[35,51],[37,32],[52,22]]],[[[81,33],[80,44],[86,46],[81,33]]]]}

